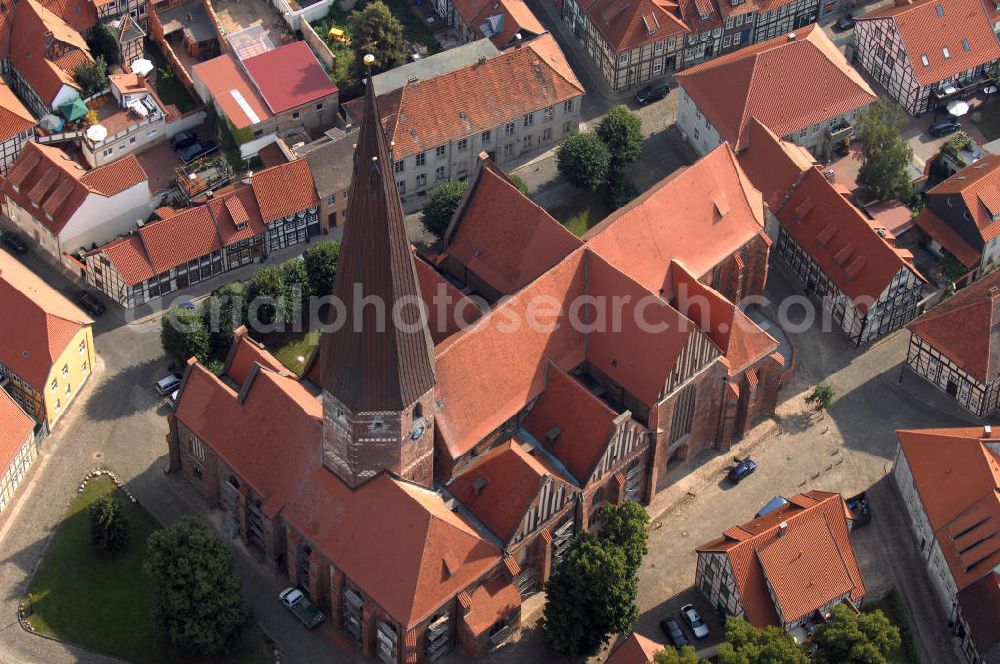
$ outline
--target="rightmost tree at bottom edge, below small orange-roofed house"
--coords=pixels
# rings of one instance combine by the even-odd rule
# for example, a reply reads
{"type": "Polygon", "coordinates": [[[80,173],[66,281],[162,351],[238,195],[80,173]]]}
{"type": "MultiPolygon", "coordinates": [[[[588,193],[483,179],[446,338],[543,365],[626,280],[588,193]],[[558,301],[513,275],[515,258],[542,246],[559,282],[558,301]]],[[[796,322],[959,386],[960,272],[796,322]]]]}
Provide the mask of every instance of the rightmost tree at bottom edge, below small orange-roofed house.
{"type": "Polygon", "coordinates": [[[843,604],[833,607],[830,622],[813,636],[829,664],[886,664],[886,655],[900,642],[899,629],[881,610],[857,614],[843,604]]]}

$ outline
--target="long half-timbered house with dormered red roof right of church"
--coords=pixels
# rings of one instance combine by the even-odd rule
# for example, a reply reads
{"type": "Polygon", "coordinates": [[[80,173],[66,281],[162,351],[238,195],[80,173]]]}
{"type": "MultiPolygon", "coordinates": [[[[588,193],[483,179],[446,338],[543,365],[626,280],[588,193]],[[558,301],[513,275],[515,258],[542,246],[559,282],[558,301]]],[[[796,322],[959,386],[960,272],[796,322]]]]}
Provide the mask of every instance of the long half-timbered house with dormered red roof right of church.
{"type": "Polygon", "coordinates": [[[878,228],[796,145],[756,120],[740,163],[767,201],[767,233],[824,315],[864,344],[913,320],[925,283],[909,250],[878,228]]]}

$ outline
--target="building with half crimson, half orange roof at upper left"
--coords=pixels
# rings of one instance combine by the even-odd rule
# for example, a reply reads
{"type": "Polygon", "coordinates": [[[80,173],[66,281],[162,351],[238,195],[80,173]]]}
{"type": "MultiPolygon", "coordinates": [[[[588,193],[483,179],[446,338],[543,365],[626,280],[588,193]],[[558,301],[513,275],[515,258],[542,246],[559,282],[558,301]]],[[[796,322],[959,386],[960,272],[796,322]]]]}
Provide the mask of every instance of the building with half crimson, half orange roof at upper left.
{"type": "Polygon", "coordinates": [[[194,65],[191,78],[202,101],[232,125],[244,159],[279,134],[328,127],[337,116],[337,86],[303,41],[243,61],[225,53],[194,65]]]}

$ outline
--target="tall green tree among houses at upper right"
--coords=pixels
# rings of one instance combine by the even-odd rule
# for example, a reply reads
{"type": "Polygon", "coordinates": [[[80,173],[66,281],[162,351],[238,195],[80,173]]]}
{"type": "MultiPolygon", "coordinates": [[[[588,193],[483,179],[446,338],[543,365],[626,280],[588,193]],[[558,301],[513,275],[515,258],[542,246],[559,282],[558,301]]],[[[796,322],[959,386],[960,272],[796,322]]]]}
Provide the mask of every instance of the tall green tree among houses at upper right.
{"type": "Polygon", "coordinates": [[[913,149],[899,131],[906,123],[903,110],[893,102],[879,98],[858,118],[861,138],[861,170],[858,182],[879,198],[910,199],[910,176],[907,168],[913,149]]]}

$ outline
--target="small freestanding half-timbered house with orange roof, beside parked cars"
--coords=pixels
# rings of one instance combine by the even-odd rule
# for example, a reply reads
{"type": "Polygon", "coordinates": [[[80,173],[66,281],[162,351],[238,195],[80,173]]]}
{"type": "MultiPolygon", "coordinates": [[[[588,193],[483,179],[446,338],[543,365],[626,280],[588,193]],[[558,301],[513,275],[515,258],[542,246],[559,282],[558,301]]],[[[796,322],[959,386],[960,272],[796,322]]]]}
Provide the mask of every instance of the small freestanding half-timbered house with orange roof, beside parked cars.
{"type": "Polygon", "coordinates": [[[695,586],[717,610],[789,632],[857,607],[865,584],[839,493],[809,491],[699,546],[695,586]]]}

